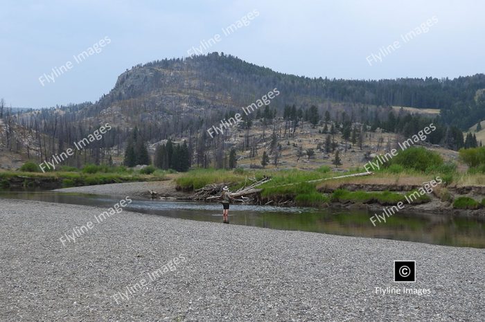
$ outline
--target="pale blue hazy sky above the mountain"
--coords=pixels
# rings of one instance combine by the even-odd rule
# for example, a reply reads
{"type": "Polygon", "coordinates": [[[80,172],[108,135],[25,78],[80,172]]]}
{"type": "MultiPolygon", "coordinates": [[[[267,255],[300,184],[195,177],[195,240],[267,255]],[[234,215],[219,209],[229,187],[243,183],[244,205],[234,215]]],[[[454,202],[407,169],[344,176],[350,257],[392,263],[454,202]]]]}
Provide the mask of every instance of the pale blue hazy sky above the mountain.
{"type": "Polygon", "coordinates": [[[126,69],[193,47],[308,77],[474,75],[485,72],[483,12],[471,0],[1,0],[0,98],[95,102],[126,69]]]}

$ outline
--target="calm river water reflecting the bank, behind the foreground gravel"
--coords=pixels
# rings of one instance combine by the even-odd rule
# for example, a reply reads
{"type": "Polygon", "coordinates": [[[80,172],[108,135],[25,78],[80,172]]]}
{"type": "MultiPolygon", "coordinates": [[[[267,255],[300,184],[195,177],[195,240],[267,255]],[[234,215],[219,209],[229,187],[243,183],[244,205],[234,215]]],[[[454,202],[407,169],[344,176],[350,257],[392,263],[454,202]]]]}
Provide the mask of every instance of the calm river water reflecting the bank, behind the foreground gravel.
{"type": "MultiPolygon", "coordinates": [[[[28,199],[64,204],[109,208],[120,198],[51,192],[3,192],[1,198],[28,199]]],[[[1,202],[0,202],[1,206],[1,202]]],[[[222,222],[222,205],[195,202],[133,200],[128,210],[165,217],[222,222]]],[[[74,214],[73,214],[74,215],[74,214]]],[[[452,217],[396,213],[385,224],[374,227],[368,211],[342,209],[283,208],[234,204],[229,211],[231,224],[270,229],[312,231],[428,244],[485,248],[484,217],[452,217]]]]}

